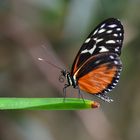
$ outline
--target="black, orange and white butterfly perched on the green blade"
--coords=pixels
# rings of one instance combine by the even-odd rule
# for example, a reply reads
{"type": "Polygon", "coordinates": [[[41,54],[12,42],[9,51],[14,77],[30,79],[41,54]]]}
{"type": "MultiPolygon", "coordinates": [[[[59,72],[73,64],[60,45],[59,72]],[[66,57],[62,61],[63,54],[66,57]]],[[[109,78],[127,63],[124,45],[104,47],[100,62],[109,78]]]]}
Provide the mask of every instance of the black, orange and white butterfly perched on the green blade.
{"type": "Polygon", "coordinates": [[[121,48],[124,39],[123,25],[118,19],[109,18],[100,23],[86,38],[73,62],[71,71],[61,71],[69,86],[93,94],[106,102],[107,96],[118,83],[122,62],[121,48]]]}

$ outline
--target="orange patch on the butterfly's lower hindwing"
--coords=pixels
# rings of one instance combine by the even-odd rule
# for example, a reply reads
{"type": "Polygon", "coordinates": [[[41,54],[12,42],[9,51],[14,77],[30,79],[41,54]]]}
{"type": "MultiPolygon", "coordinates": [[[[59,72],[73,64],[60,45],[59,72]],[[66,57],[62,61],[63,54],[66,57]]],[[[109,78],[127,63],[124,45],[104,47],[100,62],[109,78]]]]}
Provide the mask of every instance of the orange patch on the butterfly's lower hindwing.
{"type": "Polygon", "coordinates": [[[81,77],[78,80],[78,85],[83,91],[91,94],[98,94],[112,83],[117,72],[117,66],[114,65],[112,67],[108,67],[108,64],[102,64],[98,68],[81,77]]]}

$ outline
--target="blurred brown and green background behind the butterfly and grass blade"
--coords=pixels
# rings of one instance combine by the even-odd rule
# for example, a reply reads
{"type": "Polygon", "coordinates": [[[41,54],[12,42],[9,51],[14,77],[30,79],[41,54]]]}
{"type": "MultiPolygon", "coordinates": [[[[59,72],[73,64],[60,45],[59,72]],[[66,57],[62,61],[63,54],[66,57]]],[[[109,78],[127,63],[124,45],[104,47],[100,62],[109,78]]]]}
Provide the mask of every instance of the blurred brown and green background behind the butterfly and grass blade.
{"type": "MultiPolygon", "coordinates": [[[[71,68],[87,35],[106,18],[125,28],[118,86],[111,104],[85,111],[1,111],[1,140],[140,139],[139,0],[0,0],[0,96],[61,97],[60,71],[71,68]]],[[[70,88],[67,96],[77,95],[70,88]]]]}

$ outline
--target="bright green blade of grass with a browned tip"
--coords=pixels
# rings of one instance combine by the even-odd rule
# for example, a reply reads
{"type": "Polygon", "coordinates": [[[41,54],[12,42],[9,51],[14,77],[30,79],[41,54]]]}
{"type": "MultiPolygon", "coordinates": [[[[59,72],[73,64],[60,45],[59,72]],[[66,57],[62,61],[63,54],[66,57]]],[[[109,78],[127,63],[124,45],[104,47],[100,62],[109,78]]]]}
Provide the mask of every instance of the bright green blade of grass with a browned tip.
{"type": "Polygon", "coordinates": [[[0,110],[80,110],[99,103],[79,98],[0,98],[0,110]]]}

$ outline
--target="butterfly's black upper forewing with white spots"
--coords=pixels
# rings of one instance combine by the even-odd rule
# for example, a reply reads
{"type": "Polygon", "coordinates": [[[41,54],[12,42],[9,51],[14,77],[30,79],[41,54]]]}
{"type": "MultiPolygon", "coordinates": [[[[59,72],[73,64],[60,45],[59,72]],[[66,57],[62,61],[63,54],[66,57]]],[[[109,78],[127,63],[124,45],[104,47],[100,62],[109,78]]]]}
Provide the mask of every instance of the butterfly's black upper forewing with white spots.
{"type": "Polygon", "coordinates": [[[111,52],[120,55],[124,29],[121,22],[109,18],[100,23],[81,46],[71,69],[71,75],[91,56],[111,52]]]}

